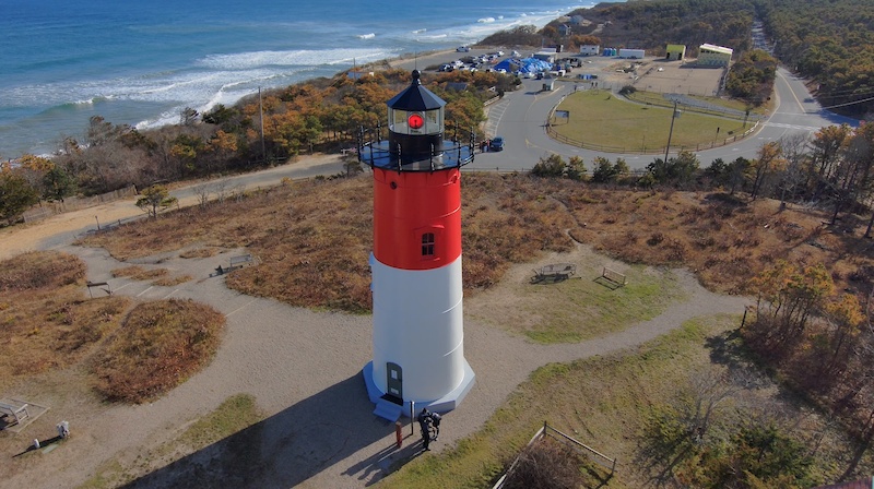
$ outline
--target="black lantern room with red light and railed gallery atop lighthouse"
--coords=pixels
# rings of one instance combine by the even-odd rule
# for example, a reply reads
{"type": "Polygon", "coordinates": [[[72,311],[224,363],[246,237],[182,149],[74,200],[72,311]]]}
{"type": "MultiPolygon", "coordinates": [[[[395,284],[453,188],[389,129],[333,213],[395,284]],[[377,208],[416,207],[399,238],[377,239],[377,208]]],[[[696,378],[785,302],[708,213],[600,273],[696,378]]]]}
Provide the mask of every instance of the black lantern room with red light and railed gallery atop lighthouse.
{"type": "MultiPolygon", "coordinates": [[[[389,138],[387,141],[358,143],[358,159],[374,167],[398,171],[433,171],[460,167],[473,160],[474,136],[466,144],[444,141],[446,102],[422,86],[418,70],[413,81],[388,105],[389,138]]],[[[379,140],[379,131],[377,131],[379,140]]]]}

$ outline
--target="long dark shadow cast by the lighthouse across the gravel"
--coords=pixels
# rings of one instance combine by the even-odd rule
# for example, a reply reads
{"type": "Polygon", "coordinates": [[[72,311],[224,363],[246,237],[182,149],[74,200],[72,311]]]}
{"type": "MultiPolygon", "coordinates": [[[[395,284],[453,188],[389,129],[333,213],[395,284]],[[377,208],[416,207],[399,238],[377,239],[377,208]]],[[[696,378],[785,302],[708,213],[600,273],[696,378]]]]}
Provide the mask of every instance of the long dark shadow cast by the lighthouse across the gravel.
{"type": "Polygon", "coordinates": [[[294,487],[385,440],[373,455],[343,468],[369,486],[421,450],[409,426],[397,449],[394,424],[373,408],[358,373],[123,487],[294,487]]]}

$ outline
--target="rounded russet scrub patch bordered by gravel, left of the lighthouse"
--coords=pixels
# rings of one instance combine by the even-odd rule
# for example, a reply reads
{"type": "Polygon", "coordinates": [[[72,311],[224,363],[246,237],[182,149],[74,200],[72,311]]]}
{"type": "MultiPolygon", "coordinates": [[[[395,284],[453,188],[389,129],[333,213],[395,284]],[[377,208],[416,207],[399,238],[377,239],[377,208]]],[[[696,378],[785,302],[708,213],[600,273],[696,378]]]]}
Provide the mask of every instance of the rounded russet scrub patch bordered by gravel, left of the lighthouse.
{"type": "Polygon", "coordinates": [[[97,391],[140,403],[182,383],[212,358],[225,318],[191,300],[137,306],[94,361],[97,391]]]}

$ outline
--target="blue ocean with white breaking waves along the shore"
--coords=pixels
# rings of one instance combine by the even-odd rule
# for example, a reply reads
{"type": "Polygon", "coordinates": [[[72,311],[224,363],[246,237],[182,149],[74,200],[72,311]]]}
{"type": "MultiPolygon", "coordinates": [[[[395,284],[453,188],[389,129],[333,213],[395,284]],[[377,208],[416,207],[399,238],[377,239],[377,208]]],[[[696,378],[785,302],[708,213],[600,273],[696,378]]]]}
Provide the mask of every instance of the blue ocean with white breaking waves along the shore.
{"type": "Polygon", "coordinates": [[[355,63],[542,27],[590,0],[0,0],[0,158],[153,128],[355,63]]]}

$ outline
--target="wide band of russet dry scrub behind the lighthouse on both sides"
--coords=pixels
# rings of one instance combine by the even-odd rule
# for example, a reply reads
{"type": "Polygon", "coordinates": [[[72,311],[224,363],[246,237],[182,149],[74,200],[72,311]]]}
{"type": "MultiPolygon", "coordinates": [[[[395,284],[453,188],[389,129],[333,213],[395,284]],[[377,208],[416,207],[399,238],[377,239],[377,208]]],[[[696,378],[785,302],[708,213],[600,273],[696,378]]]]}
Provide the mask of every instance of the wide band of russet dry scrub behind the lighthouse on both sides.
{"type": "MultiPolygon", "coordinates": [[[[295,182],[205,210],[86,238],[128,259],[200,243],[247,247],[261,259],[227,277],[243,293],[295,306],[370,309],[371,183],[367,176],[295,182]]],[[[572,248],[574,239],[628,263],[685,265],[710,289],[742,294],[780,257],[823,262],[841,288],[872,265],[864,223],[823,225],[822,213],[779,211],[719,192],[605,189],[524,175],[465,174],[462,186],[465,294],[488,288],[511,263],[572,248]]]]}

